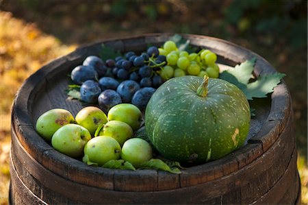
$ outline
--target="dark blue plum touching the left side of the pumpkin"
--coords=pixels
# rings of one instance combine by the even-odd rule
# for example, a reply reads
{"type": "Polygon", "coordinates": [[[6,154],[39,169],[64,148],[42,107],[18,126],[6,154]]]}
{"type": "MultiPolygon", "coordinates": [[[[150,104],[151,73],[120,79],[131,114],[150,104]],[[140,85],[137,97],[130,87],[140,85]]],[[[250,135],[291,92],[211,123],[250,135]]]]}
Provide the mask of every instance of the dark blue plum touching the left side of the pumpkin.
{"type": "Polygon", "coordinates": [[[140,110],[144,110],[155,91],[156,89],[151,87],[140,88],[140,90],[133,95],[131,103],[137,106],[140,110]]]}

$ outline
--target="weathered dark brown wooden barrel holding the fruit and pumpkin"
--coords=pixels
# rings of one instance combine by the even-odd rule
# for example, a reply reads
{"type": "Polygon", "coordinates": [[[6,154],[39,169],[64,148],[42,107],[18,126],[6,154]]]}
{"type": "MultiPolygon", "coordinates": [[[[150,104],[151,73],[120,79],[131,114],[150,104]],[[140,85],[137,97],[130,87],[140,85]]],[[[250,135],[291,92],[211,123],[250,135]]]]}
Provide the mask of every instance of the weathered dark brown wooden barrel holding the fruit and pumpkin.
{"type": "MultiPolygon", "coordinates": [[[[292,128],[290,93],[284,82],[266,99],[256,99],[246,145],[179,174],[156,170],[90,167],[55,151],[34,125],[43,112],[65,108],[77,114],[77,100],[67,99],[68,73],[101,44],[119,51],[160,46],[172,34],[146,34],[105,40],[81,47],[31,75],[12,106],[11,204],[299,204],[300,182],[292,128]]],[[[208,36],[183,34],[190,45],[218,54],[220,67],[257,58],[255,75],[274,68],[256,53],[208,36]]]]}

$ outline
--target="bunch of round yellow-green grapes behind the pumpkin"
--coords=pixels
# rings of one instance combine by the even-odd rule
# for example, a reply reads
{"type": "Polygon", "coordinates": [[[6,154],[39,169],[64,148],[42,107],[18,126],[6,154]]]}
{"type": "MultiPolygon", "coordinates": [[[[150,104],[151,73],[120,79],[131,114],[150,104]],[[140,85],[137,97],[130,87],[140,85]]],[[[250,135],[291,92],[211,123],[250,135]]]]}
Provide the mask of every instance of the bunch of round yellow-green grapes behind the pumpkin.
{"type": "Polygon", "coordinates": [[[179,51],[175,42],[168,40],[158,50],[159,55],[166,56],[167,64],[159,71],[159,75],[164,80],[183,75],[199,77],[207,75],[213,78],[219,76],[219,67],[216,64],[217,56],[209,49],[203,49],[198,53],[188,53],[187,51],[179,51]]]}

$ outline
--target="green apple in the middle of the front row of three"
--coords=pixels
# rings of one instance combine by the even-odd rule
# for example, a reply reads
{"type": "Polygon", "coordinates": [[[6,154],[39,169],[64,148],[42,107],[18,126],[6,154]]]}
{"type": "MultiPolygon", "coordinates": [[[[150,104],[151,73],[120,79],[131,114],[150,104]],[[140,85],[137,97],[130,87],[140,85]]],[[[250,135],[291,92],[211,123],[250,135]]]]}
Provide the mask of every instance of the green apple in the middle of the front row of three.
{"type": "Polygon", "coordinates": [[[97,164],[103,166],[110,160],[120,158],[121,147],[118,141],[111,136],[96,136],[84,147],[84,158],[82,160],[88,165],[97,164]]]}

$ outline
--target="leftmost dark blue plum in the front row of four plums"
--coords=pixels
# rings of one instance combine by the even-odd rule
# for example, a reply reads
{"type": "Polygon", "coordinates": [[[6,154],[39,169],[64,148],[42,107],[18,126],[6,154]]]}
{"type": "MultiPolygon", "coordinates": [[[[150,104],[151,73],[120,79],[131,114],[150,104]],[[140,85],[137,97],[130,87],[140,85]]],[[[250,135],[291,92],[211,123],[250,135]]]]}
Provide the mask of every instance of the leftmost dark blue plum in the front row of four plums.
{"type": "Polygon", "coordinates": [[[97,103],[99,94],[101,94],[101,88],[99,83],[94,80],[87,80],[80,87],[81,99],[89,104],[97,103]]]}

